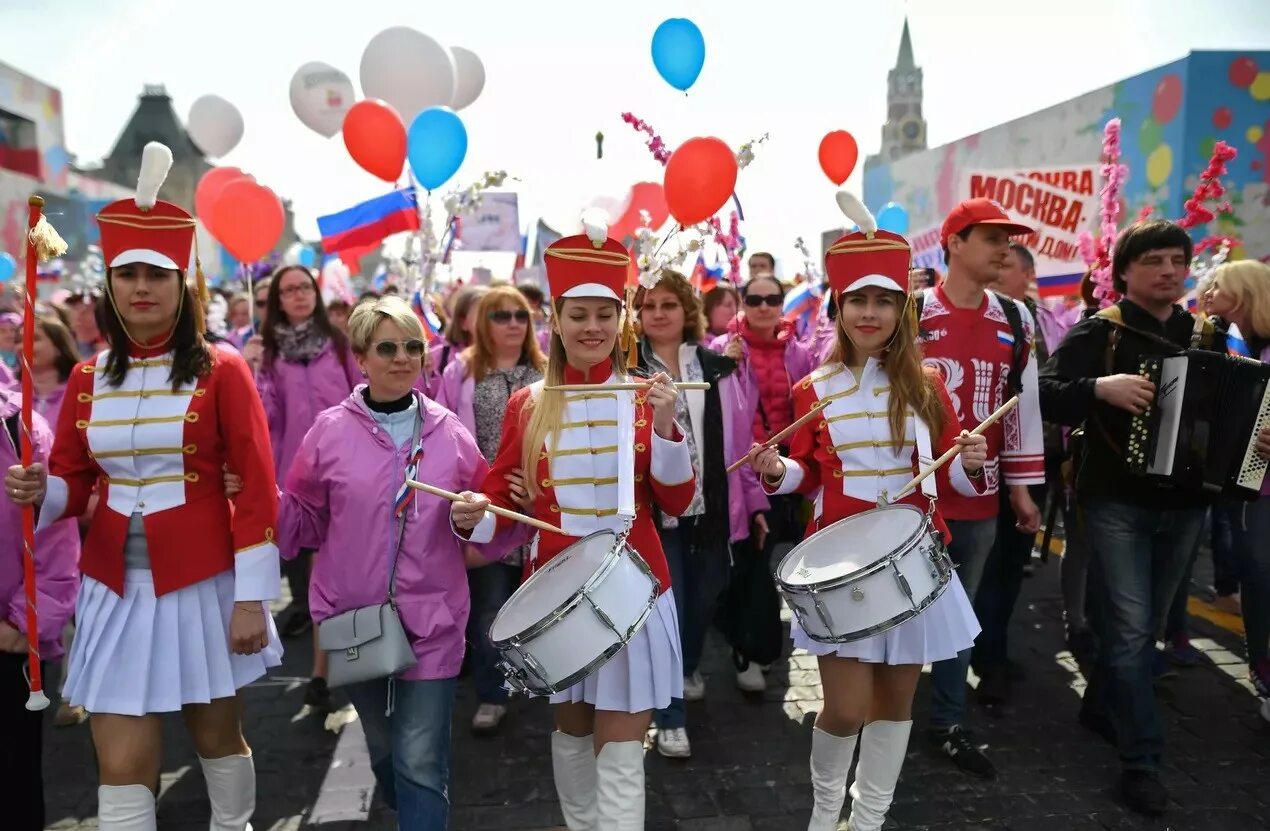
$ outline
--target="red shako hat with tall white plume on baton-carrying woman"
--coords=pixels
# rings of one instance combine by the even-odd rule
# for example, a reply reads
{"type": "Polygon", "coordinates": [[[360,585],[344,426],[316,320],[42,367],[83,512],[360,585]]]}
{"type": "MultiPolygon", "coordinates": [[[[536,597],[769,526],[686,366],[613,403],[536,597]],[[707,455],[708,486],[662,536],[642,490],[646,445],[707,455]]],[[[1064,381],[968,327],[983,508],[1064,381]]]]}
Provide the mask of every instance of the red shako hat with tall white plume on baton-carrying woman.
{"type": "Polygon", "coordinates": [[[159,201],[171,169],[171,150],[151,141],[141,154],[137,194],[102,208],[102,258],[107,268],[147,263],[187,271],[194,245],[194,217],[171,202],[159,201]]]}

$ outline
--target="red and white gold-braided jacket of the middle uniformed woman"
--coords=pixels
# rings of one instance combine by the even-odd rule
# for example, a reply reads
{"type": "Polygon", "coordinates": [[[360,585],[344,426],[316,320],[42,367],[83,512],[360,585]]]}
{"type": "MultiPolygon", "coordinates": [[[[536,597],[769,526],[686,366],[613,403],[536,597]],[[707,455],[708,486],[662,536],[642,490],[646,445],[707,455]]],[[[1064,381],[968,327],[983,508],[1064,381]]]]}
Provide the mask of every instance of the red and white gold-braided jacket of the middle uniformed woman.
{"type": "MultiPolygon", "coordinates": [[[[613,374],[608,362],[587,374],[565,367],[565,384],[616,384],[627,379],[613,374]]],[[[513,511],[507,474],[521,466],[521,449],[530,412],[526,402],[542,382],[517,390],[508,402],[498,457],[485,476],[483,492],[490,502],[513,511]]],[[[687,441],[676,426],[674,441],[653,429],[653,408],[636,393],[566,393],[558,446],[550,440],[538,454],[538,497],[533,513],[564,534],[541,531],[526,562],[526,576],[552,557],[596,531],[621,532],[634,517],[626,543],[639,551],[664,592],[671,572],[653,521],[653,506],[678,516],[688,510],[696,480],[687,441]]],[[[488,543],[511,520],[486,513],[472,530],[472,543],[488,543]]]]}

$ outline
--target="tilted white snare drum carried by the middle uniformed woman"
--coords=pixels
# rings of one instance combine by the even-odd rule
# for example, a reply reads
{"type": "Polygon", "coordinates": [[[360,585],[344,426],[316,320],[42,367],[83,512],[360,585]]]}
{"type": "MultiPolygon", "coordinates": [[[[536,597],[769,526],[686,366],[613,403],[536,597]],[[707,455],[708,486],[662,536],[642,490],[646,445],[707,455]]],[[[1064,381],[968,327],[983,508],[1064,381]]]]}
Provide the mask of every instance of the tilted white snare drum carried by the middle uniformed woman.
{"type": "Polygon", "coordinates": [[[625,536],[584,536],[533,572],[494,618],[499,668],[513,690],[561,692],[621,652],[659,593],[625,536]]]}

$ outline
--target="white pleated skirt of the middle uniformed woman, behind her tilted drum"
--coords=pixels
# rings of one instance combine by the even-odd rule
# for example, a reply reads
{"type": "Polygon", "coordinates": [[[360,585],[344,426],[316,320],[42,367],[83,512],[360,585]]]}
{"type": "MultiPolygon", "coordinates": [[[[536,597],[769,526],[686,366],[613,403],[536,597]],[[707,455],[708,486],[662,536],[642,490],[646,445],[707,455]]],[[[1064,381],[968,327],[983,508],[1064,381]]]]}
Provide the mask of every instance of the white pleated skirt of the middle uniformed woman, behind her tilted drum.
{"type": "Polygon", "coordinates": [[[679,649],[679,619],[674,612],[673,588],[653,604],[644,628],[621,652],[564,692],[552,704],[591,704],[597,710],[643,713],[671,705],[683,698],[683,653],[679,649]]]}

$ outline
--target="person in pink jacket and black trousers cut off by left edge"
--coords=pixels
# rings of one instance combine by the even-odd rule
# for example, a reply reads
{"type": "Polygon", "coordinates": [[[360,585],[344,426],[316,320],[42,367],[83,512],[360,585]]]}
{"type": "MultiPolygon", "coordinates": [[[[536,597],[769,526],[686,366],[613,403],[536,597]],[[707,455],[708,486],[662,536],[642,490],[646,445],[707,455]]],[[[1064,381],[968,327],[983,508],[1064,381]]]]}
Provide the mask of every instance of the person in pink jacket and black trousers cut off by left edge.
{"type": "MultiPolygon", "coordinates": [[[[19,464],[20,396],[0,389],[0,470],[19,464]]],[[[36,461],[47,463],[53,433],[39,413],[33,418],[36,461]]],[[[61,520],[36,534],[36,591],[39,610],[39,657],[48,666],[62,657],[62,628],[75,611],[79,592],[79,529],[61,520]]],[[[0,499],[0,781],[4,781],[5,827],[42,831],[44,783],[41,713],[27,710],[27,596],[23,583],[22,508],[0,499]]]]}

